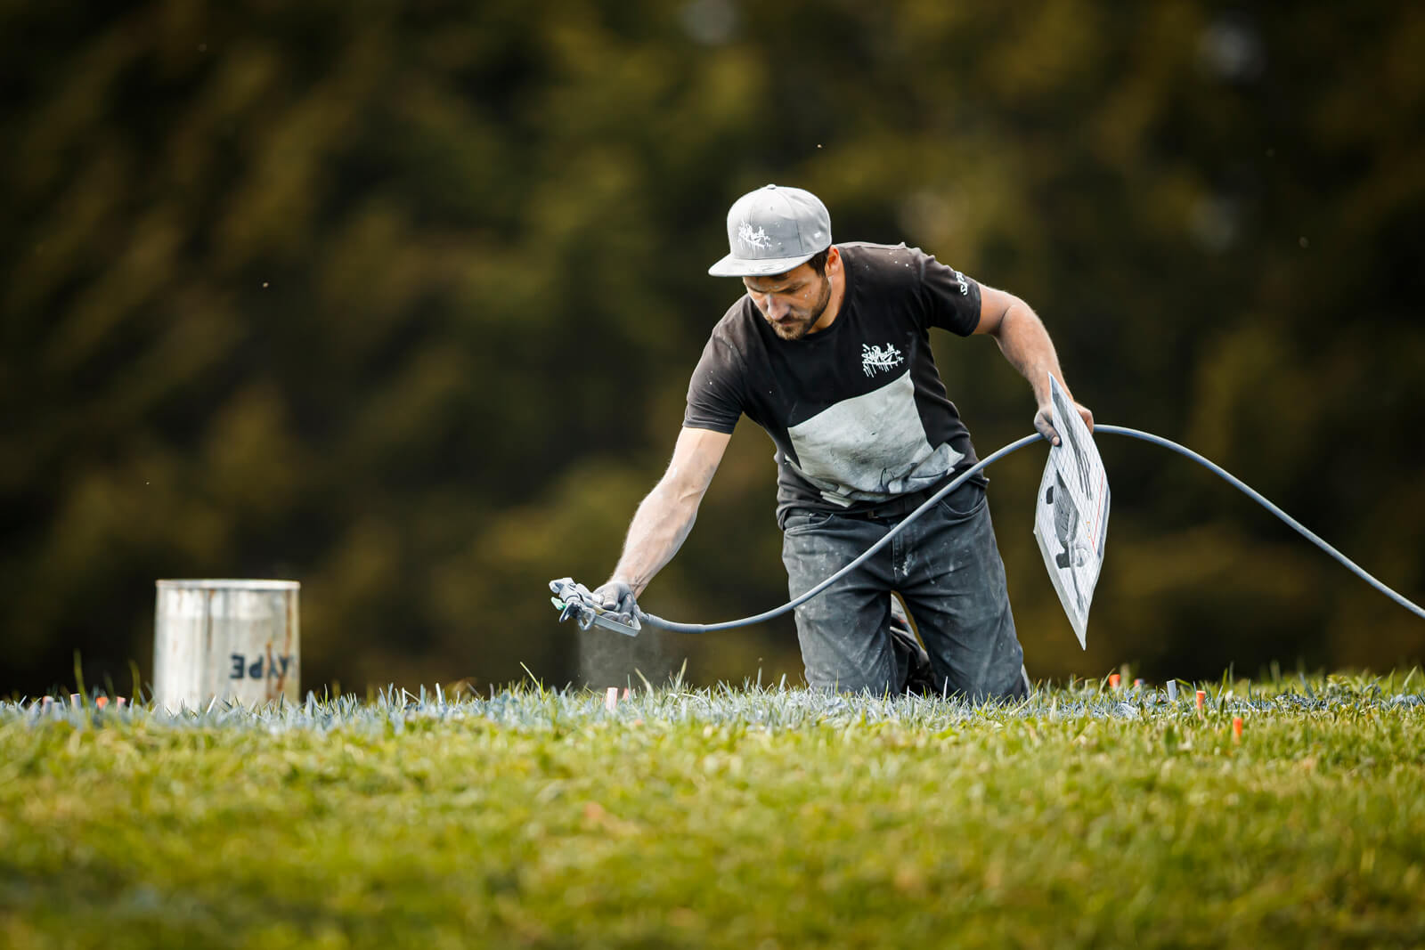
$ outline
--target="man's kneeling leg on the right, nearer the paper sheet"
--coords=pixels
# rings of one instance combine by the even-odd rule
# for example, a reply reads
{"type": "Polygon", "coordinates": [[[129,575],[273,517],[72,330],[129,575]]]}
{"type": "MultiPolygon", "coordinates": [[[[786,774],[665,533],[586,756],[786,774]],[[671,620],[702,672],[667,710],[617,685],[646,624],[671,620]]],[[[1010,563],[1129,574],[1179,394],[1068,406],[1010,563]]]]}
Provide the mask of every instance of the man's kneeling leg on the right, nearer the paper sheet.
{"type": "Polygon", "coordinates": [[[896,573],[903,571],[896,590],[915,615],[945,692],[975,702],[1027,695],[1025,654],[983,487],[955,491],[901,538],[906,546],[895,554],[896,573]]]}

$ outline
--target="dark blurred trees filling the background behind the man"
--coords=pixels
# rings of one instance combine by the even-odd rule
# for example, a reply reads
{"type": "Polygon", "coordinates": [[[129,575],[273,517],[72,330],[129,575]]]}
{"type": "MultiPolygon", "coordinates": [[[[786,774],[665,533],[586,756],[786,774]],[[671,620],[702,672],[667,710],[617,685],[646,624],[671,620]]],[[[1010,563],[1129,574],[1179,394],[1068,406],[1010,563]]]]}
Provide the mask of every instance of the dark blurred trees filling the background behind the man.
{"type": "MultiPolygon", "coordinates": [[[[302,581],[304,687],[580,679],[594,585],[738,295],[728,204],[818,192],[1043,315],[1100,422],[1186,442],[1425,595],[1425,14],[1408,3],[0,3],[0,691],[151,675],[154,580],[302,581]]],[[[1030,432],[938,340],[982,453],[1030,432]]],[[[1089,651],[992,506],[1032,677],[1425,657],[1191,463],[1100,439],[1089,651]]],[[[742,422],[644,598],[785,598],[742,422]]],[[[789,620],[651,677],[801,677],[789,620]]]]}

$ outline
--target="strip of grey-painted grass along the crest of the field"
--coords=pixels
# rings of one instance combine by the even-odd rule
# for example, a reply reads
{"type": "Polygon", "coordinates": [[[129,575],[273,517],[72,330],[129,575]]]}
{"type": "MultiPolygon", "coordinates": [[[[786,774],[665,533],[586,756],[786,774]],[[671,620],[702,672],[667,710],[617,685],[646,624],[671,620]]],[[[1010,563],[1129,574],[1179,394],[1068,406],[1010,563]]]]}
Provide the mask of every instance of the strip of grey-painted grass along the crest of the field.
{"type": "MultiPolygon", "coordinates": [[[[809,689],[765,688],[747,682],[742,687],[720,685],[688,689],[674,682],[656,689],[644,685],[630,689],[614,709],[607,709],[604,695],[586,689],[550,689],[539,684],[514,685],[490,696],[449,698],[439,685],[418,692],[389,687],[369,702],[348,694],[319,699],[308,692],[306,701],[242,705],[214,701],[204,709],[170,711],[152,704],[128,704],[120,708],[97,698],[54,696],[0,702],[0,722],[58,722],[103,726],[117,722],[145,722],[172,728],[232,728],[285,732],[291,729],[395,731],[410,722],[457,722],[479,718],[513,729],[564,729],[580,722],[640,721],[641,724],[738,725],[765,729],[801,729],[822,725],[885,724],[940,731],[982,724],[993,728],[1026,719],[1196,719],[1196,689],[1206,692],[1203,716],[1230,719],[1243,716],[1341,716],[1381,714],[1425,705],[1425,682],[1414,672],[1404,677],[1331,677],[1325,681],[1278,682],[1254,685],[1238,681],[1216,684],[1180,684],[1177,699],[1168,699],[1163,687],[1110,689],[1107,681],[1082,681],[1059,688],[1039,688],[1016,704],[972,705],[939,696],[869,696],[835,695],[809,689]],[[1416,687],[1415,691],[1411,688],[1416,687]]],[[[623,694],[623,691],[620,691],[623,694]]]]}

